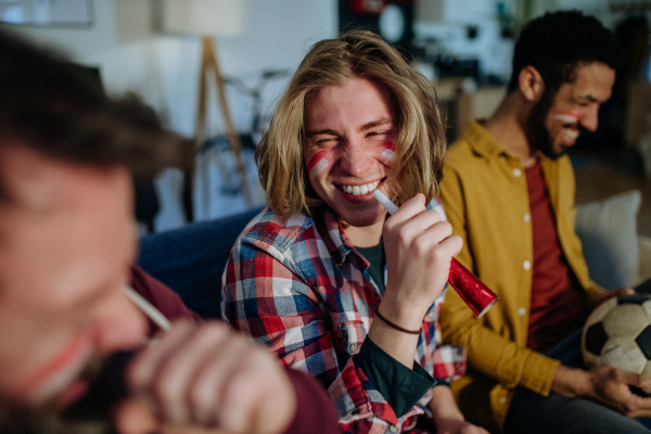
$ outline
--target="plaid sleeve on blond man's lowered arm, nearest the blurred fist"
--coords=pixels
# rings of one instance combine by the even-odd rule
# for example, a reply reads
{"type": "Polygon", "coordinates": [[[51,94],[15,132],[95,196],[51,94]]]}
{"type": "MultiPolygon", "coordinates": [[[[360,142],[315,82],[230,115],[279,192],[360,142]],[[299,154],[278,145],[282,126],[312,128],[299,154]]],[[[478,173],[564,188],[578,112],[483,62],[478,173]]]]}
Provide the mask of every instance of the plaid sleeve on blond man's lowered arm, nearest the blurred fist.
{"type": "Polygon", "coordinates": [[[254,244],[239,241],[231,252],[224,284],[224,319],[269,345],[284,365],[320,380],[335,403],[344,432],[399,432],[416,423],[413,416],[423,410],[414,406],[397,418],[355,356],[340,370],[318,296],[290,271],[284,258],[254,244]]]}

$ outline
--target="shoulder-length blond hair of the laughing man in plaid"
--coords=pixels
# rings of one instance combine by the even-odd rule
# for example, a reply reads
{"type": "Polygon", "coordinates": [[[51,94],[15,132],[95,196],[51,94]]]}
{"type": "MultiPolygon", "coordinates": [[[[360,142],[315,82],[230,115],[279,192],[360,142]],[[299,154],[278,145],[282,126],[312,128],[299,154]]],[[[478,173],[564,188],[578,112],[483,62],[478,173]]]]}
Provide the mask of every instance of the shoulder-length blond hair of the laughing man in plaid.
{"type": "Polygon", "coordinates": [[[398,128],[390,173],[399,206],[417,193],[437,192],[445,155],[445,128],[434,86],[379,36],[363,30],[317,42],[280,99],[255,159],[269,206],[279,215],[311,212],[323,202],[311,188],[304,161],[305,101],[320,88],[350,77],[383,84],[392,93],[398,128]]]}

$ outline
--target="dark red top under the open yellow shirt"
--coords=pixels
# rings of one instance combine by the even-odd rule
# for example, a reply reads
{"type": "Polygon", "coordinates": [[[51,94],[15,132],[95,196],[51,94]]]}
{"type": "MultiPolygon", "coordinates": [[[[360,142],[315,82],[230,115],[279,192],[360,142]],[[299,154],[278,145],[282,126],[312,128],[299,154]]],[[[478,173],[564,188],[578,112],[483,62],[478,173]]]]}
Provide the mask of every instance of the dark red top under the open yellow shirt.
{"type": "Polygon", "coordinates": [[[586,320],[583,293],[559,244],[540,165],[525,169],[534,228],[534,276],[526,346],[541,352],[554,346],[586,320]]]}

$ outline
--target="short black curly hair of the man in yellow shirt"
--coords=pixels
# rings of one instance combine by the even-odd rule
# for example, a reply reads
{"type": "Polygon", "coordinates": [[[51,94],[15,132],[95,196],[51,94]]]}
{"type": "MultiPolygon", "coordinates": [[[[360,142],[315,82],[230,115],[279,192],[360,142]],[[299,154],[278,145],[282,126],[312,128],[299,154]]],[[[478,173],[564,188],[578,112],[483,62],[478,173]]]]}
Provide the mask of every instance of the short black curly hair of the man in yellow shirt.
{"type": "Polygon", "coordinates": [[[617,71],[623,52],[615,35],[593,16],[578,11],[548,13],[529,22],[520,34],[513,53],[513,72],[508,91],[516,90],[525,66],[535,67],[552,94],[574,80],[579,64],[601,62],[617,71]]]}

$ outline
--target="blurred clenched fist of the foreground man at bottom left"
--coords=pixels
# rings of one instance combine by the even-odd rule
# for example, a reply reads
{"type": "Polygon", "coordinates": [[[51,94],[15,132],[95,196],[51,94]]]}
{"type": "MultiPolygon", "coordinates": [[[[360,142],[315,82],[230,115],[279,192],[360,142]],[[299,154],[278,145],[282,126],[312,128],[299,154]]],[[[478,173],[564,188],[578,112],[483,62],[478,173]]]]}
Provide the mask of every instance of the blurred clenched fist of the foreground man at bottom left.
{"type": "Polygon", "coordinates": [[[218,322],[176,323],[136,356],[127,383],[132,397],[115,414],[124,434],[280,433],[296,409],[278,360],[218,322]]]}

